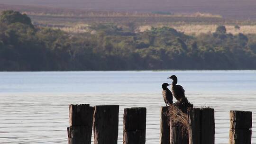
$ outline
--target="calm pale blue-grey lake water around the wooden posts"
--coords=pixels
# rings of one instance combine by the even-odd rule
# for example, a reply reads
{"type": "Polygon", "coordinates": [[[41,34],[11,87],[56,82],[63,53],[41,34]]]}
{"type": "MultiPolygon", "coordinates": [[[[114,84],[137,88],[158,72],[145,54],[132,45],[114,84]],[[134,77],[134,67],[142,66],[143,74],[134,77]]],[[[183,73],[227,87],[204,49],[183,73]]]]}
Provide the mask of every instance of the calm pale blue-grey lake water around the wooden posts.
{"type": "Polygon", "coordinates": [[[146,144],[159,144],[161,85],[175,74],[196,107],[215,108],[215,142],[228,144],[229,110],[253,113],[256,71],[0,72],[0,143],[67,144],[69,104],[146,107],[146,144]]]}

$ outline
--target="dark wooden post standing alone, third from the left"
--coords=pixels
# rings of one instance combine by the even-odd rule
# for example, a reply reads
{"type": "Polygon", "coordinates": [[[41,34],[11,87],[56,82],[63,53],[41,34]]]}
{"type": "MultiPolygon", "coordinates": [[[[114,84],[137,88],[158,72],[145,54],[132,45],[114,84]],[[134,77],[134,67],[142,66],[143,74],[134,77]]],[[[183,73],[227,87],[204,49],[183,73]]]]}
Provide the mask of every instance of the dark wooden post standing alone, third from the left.
{"type": "Polygon", "coordinates": [[[123,144],[145,143],[146,108],[125,108],[123,144]]]}

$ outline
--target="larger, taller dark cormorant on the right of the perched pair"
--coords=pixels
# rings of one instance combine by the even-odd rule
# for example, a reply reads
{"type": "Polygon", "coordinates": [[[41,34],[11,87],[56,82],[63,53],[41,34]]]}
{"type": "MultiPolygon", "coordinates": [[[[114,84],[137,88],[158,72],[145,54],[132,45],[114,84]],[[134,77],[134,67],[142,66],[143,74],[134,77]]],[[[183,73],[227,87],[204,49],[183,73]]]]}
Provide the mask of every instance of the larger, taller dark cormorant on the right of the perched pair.
{"type": "Polygon", "coordinates": [[[172,88],[171,91],[174,95],[174,97],[178,100],[178,103],[188,103],[188,99],[185,97],[185,90],[181,85],[177,85],[178,79],[175,75],[170,76],[167,79],[172,79],[172,88]]]}

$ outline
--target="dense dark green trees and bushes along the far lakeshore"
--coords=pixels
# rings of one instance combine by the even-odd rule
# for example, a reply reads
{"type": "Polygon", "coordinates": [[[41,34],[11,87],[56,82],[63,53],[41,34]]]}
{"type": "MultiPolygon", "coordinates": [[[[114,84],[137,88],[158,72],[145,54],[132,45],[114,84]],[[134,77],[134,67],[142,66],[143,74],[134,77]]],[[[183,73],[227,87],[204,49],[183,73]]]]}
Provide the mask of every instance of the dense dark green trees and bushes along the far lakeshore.
{"type": "Polygon", "coordinates": [[[0,15],[0,71],[256,69],[256,36],[187,36],[171,27],[95,24],[95,33],[35,27],[25,14],[0,15]]]}

